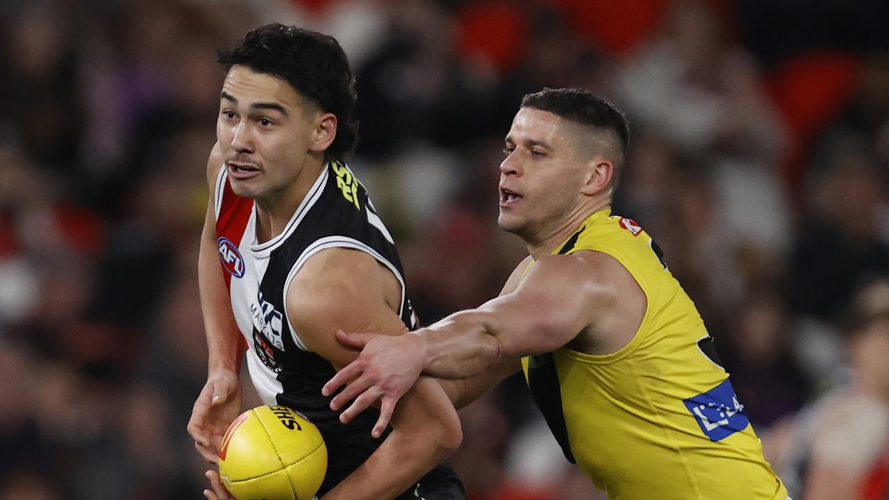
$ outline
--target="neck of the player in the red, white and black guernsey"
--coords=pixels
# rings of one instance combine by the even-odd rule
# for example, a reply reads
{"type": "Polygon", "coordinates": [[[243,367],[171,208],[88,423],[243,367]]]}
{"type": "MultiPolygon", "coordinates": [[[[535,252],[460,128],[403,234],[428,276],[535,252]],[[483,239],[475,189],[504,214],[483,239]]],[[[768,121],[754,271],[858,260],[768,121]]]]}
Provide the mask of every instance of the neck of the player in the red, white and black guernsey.
{"type": "Polygon", "coordinates": [[[286,227],[287,222],[306,198],[308,190],[324,171],[327,160],[324,157],[307,156],[300,174],[281,190],[256,198],[256,238],[260,243],[275,238],[286,227]]]}

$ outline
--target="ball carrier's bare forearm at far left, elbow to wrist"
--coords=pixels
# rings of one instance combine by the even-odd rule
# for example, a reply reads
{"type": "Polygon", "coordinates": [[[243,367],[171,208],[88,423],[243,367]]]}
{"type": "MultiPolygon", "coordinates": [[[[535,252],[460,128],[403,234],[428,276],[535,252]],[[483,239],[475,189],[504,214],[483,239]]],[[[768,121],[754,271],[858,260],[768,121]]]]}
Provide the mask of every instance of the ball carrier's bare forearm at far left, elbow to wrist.
{"type": "Polygon", "coordinates": [[[220,270],[214,234],[204,228],[197,264],[201,310],[209,353],[208,367],[210,373],[220,369],[237,373],[240,370],[243,343],[220,270]]]}

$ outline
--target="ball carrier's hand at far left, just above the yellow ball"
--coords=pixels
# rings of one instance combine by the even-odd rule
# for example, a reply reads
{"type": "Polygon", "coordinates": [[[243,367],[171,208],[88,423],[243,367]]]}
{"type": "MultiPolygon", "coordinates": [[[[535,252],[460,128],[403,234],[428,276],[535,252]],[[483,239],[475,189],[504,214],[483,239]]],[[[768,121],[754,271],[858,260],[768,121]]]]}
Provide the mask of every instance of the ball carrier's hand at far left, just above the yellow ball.
{"type": "Polygon", "coordinates": [[[211,464],[219,460],[222,436],[241,414],[241,383],[230,370],[213,372],[195,401],[188,420],[188,433],[198,453],[211,464]]]}

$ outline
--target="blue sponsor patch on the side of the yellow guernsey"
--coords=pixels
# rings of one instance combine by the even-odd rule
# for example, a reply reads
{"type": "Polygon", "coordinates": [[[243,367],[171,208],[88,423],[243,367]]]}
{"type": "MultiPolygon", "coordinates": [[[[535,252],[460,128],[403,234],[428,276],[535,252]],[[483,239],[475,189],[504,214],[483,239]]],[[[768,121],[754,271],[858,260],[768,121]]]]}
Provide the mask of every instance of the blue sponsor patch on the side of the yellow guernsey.
{"type": "Polygon", "coordinates": [[[711,441],[725,440],[735,432],[746,429],[750,423],[744,413],[744,405],[738,402],[738,396],[728,379],[683,402],[711,441]]]}

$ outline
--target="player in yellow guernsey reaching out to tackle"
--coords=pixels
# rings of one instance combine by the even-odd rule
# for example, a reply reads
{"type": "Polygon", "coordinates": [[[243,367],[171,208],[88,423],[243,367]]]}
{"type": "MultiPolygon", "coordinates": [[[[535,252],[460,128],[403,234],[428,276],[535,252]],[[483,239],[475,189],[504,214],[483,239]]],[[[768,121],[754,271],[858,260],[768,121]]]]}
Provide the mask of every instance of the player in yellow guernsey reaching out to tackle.
{"type": "Polygon", "coordinates": [[[786,500],[693,302],[637,222],[611,214],[626,118],[578,90],[525,96],[501,163],[501,228],[529,256],[501,296],[360,356],[324,386],[380,431],[420,375],[461,407],[524,369],[565,456],[613,500],[786,500]],[[348,384],[347,384],[348,383],[348,384]]]}

